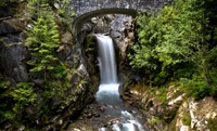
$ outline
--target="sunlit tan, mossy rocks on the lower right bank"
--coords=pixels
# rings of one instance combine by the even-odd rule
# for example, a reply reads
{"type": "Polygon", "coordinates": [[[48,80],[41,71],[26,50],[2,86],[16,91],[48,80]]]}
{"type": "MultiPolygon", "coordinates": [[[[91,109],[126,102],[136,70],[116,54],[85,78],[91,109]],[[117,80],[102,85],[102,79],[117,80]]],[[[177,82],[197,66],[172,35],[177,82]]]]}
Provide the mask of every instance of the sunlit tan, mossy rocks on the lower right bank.
{"type": "Polygon", "coordinates": [[[195,101],[174,84],[164,94],[132,80],[124,86],[123,99],[144,110],[150,131],[215,131],[217,128],[217,102],[213,97],[195,101]]]}

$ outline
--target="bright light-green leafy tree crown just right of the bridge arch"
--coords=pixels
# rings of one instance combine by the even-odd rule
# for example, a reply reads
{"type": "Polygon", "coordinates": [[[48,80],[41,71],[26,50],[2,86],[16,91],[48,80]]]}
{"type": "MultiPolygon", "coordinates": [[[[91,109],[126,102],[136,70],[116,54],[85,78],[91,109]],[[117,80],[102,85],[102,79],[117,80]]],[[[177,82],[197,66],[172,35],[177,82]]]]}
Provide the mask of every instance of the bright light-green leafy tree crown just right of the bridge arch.
{"type": "Polygon", "coordinates": [[[138,18],[139,44],[133,45],[136,53],[130,64],[155,68],[156,63],[152,60],[157,58],[164,68],[187,61],[195,62],[197,54],[194,51],[204,48],[200,43],[203,42],[203,24],[206,23],[203,10],[194,9],[196,3],[196,0],[177,0],[156,16],[141,15],[138,18]]]}

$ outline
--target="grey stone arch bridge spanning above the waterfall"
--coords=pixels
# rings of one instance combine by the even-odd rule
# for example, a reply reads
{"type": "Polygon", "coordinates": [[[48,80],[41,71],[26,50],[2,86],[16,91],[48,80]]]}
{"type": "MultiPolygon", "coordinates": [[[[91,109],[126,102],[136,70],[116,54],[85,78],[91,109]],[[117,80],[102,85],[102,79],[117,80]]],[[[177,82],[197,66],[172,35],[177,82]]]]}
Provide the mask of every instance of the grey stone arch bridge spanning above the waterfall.
{"type": "Polygon", "coordinates": [[[128,14],[136,16],[137,11],[158,10],[171,0],[72,0],[76,18],[73,29],[91,17],[102,14],[128,14]]]}

